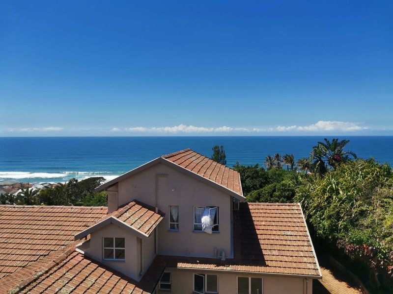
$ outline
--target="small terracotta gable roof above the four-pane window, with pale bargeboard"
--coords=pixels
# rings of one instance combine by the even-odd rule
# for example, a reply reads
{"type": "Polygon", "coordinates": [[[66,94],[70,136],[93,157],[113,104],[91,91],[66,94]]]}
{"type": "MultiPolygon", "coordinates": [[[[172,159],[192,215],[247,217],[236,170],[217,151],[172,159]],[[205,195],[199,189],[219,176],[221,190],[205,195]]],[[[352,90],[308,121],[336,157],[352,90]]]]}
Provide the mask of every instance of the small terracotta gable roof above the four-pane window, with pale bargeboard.
{"type": "Polygon", "coordinates": [[[164,216],[165,214],[162,211],[158,211],[158,213],[156,213],[155,207],[138,200],[133,200],[116,211],[113,211],[103,219],[97,221],[83,232],[76,234],[75,238],[81,239],[84,236],[87,236],[96,229],[99,229],[100,223],[110,221],[110,219],[121,221],[145,236],[149,236],[159,222],[163,220],[164,216]]]}

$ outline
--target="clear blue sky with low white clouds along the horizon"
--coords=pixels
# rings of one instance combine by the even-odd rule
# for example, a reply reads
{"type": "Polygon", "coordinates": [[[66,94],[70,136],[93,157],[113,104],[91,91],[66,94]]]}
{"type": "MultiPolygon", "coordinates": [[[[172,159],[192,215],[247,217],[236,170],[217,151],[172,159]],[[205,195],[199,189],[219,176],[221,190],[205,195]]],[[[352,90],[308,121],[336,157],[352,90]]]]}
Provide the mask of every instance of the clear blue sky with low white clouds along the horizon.
{"type": "Polygon", "coordinates": [[[392,135],[393,4],[0,1],[0,136],[392,135]]]}

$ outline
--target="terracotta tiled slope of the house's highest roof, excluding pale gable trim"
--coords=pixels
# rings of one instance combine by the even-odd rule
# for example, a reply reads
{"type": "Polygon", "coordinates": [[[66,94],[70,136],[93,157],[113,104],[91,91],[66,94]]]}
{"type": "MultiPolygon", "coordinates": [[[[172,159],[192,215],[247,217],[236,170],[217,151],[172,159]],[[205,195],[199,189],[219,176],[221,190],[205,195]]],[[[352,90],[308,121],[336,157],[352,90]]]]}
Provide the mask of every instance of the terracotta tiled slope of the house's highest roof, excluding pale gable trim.
{"type": "Polygon", "coordinates": [[[184,149],[161,157],[243,196],[239,172],[202,154],[184,149]]]}

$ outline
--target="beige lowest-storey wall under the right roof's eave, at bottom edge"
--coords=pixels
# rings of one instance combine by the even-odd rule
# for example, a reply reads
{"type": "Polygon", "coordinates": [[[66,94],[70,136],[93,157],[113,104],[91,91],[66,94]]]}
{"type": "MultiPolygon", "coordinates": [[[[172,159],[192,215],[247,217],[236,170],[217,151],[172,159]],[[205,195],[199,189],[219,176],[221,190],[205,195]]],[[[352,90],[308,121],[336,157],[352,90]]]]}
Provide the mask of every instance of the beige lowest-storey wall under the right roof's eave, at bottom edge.
{"type": "MultiPolygon", "coordinates": [[[[166,271],[171,272],[171,294],[192,294],[194,287],[194,273],[217,274],[218,290],[220,294],[236,294],[238,276],[262,278],[263,294],[312,294],[312,280],[309,279],[306,282],[305,279],[301,277],[232,273],[212,270],[167,269],[166,271]],[[305,287],[306,285],[307,292],[305,287]]],[[[158,290],[158,293],[168,294],[168,291],[158,290]]]]}

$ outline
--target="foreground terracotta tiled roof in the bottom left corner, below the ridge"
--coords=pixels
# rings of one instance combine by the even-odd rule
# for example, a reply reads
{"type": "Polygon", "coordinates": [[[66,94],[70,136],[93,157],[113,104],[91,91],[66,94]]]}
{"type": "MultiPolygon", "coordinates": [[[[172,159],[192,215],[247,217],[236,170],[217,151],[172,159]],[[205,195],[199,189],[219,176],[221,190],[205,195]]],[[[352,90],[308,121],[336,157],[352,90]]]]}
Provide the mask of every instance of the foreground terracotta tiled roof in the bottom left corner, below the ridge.
{"type": "MultiPolygon", "coordinates": [[[[69,247],[41,267],[27,269],[18,283],[3,283],[0,293],[131,293],[154,291],[165,264],[156,257],[137,282],[69,247]]],[[[12,277],[10,275],[9,277],[12,277]]],[[[8,278],[8,277],[6,277],[8,278]]],[[[14,279],[17,280],[17,279],[14,279]]]]}

